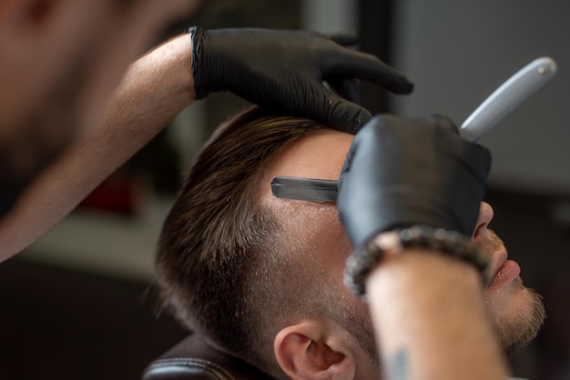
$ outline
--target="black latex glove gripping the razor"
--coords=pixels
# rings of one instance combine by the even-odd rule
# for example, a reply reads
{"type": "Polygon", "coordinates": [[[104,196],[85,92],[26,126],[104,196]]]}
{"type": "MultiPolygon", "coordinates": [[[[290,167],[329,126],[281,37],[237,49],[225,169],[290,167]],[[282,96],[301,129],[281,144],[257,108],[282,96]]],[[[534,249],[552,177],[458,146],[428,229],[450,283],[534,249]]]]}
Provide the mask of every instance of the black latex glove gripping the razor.
{"type": "Polygon", "coordinates": [[[472,235],[491,155],[444,116],[379,115],[354,137],[337,205],[355,248],[397,227],[430,225],[472,235]]]}

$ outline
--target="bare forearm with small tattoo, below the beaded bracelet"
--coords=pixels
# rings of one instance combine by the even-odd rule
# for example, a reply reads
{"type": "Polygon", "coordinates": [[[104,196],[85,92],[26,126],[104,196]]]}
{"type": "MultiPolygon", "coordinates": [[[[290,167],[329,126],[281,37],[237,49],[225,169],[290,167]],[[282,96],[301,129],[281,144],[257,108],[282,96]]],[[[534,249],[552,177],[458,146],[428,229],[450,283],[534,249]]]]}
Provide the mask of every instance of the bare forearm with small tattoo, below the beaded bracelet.
{"type": "Polygon", "coordinates": [[[388,379],[504,379],[477,272],[433,253],[387,256],[367,295],[388,379]]]}

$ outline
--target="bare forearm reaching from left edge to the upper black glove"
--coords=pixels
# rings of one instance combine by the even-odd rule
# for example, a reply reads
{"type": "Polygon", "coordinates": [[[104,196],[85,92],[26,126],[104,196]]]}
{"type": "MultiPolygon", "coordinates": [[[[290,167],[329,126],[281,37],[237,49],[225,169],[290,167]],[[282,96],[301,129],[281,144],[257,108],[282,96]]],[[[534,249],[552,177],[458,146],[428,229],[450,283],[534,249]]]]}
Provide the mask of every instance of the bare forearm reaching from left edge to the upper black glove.
{"type": "Polygon", "coordinates": [[[130,65],[102,119],[0,221],[0,262],[56,225],[195,100],[190,59],[188,35],[180,35],[130,65]]]}

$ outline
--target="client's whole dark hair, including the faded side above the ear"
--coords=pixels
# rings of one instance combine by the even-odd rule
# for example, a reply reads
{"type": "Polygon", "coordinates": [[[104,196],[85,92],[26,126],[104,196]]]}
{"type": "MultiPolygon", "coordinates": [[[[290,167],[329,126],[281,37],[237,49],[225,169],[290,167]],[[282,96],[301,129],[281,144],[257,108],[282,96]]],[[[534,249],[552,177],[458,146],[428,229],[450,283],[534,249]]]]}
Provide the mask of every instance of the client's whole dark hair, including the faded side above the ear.
{"type": "MultiPolygon", "coordinates": [[[[369,320],[322,275],[319,255],[290,233],[288,216],[260,201],[265,170],[324,128],[259,107],[220,125],[189,169],[159,239],[163,305],[213,345],[274,375],[273,339],[291,315],[326,315],[376,357],[369,320]]],[[[334,205],[312,206],[337,216],[334,205]]]]}

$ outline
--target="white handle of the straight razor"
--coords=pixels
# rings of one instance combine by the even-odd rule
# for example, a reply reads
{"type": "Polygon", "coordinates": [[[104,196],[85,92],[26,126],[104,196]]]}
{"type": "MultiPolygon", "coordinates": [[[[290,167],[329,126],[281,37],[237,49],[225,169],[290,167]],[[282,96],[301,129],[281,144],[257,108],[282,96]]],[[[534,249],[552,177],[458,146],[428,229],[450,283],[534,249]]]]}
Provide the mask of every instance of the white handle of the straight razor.
{"type": "Polygon", "coordinates": [[[556,74],[550,57],[537,58],[511,76],[463,122],[459,134],[475,142],[556,74]]]}

